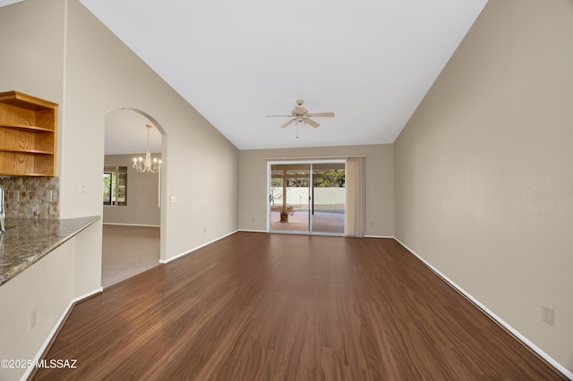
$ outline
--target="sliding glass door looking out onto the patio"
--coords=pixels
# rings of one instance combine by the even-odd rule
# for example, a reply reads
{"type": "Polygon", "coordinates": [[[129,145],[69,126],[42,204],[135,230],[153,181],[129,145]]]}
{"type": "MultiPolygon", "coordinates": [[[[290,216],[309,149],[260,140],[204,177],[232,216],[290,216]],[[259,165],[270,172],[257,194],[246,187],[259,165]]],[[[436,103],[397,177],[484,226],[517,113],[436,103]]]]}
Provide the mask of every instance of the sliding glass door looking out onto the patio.
{"type": "Polygon", "coordinates": [[[345,233],[344,161],[269,163],[269,232],[345,233]]]}

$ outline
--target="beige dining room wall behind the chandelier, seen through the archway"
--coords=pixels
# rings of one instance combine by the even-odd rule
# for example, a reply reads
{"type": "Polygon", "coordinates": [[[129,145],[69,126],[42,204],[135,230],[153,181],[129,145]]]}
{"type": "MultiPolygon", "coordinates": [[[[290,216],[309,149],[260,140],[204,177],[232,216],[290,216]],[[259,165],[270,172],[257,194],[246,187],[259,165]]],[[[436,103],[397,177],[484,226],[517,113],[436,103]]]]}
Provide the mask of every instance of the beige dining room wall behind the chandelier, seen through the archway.
{"type": "MultiPolygon", "coordinates": [[[[159,174],[141,173],[133,169],[133,157],[142,155],[106,155],[104,158],[105,165],[127,166],[127,205],[104,205],[104,224],[161,224],[161,209],[158,206],[159,174]]],[[[161,158],[161,155],[153,154],[153,157],[161,158]]]]}

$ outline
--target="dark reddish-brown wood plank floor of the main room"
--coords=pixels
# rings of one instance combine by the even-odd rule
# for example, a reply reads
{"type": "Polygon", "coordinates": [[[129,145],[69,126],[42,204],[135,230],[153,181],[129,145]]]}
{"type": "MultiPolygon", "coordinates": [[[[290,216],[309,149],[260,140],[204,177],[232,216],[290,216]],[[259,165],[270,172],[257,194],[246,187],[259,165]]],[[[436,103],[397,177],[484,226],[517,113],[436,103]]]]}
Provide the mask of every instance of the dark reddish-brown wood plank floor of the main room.
{"type": "Polygon", "coordinates": [[[565,379],[391,239],[235,233],[74,309],[34,379],[565,379]]]}

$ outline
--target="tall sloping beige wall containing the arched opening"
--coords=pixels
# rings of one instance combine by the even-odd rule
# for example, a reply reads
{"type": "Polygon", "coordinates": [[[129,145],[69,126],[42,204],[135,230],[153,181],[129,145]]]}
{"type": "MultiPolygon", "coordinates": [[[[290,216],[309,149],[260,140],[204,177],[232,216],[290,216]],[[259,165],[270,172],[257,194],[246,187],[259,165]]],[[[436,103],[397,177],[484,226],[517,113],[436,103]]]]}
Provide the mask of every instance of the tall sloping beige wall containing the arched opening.
{"type": "Polygon", "coordinates": [[[105,114],[126,107],[163,134],[161,258],[235,232],[238,150],[83,5],[68,4],[63,216],[102,213],[105,114]],[[77,191],[79,179],[88,192],[77,191]]]}

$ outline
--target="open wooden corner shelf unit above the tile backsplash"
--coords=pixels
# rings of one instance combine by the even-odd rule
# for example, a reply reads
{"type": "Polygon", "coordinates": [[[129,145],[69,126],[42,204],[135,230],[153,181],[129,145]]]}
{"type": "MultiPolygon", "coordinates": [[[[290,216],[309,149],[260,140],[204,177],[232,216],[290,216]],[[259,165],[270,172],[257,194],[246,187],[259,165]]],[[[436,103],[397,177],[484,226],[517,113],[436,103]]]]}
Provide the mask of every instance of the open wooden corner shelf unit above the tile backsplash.
{"type": "Polygon", "coordinates": [[[55,176],[57,104],[0,93],[0,175],[55,176]]]}

